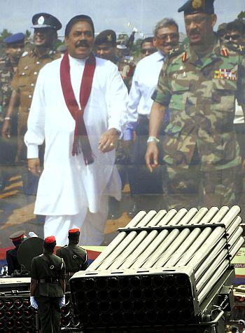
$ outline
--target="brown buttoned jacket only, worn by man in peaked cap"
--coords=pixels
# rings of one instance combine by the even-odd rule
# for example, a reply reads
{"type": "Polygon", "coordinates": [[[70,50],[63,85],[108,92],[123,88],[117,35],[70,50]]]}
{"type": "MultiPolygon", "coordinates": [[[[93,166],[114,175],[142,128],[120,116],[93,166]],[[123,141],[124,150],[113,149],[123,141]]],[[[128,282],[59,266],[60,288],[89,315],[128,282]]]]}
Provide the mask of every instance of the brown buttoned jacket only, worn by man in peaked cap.
{"type": "Polygon", "coordinates": [[[40,69],[48,62],[60,57],[60,53],[48,50],[38,56],[35,50],[24,52],[15,73],[12,88],[20,94],[20,112],[29,112],[36,79],[40,69]]]}

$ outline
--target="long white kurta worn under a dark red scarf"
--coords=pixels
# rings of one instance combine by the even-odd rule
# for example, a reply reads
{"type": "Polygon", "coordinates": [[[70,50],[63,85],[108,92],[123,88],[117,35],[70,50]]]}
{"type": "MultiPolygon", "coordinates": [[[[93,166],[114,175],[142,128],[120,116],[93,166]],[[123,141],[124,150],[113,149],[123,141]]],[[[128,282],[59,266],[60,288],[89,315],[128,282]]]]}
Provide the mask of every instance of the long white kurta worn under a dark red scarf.
{"type": "MultiPolygon", "coordinates": [[[[79,103],[80,83],[85,60],[69,56],[71,84],[79,103]]],[[[127,116],[127,88],[118,67],[96,58],[96,68],[84,120],[95,156],[85,165],[83,154],[72,156],[75,121],[67,109],[60,83],[61,59],[46,64],[36,82],[25,135],[27,158],[38,157],[38,145],[45,140],[44,170],[38,184],[34,213],[38,215],[76,215],[89,208],[99,210],[102,194],[120,200],[121,184],[115,149],[102,154],[99,137],[109,128],[122,132],[127,116]]]]}

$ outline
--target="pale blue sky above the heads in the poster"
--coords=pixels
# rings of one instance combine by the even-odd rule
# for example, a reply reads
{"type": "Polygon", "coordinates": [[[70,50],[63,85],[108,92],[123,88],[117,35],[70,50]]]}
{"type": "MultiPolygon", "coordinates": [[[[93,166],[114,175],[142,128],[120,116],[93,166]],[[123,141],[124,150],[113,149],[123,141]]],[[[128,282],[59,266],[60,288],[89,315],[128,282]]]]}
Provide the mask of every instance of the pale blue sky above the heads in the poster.
{"type": "MultiPolygon", "coordinates": [[[[158,20],[171,17],[179,22],[180,31],[185,32],[183,13],[178,8],[185,0],[1,0],[0,30],[25,32],[31,27],[35,13],[46,12],[56,15],[63,26],[74,15],[84,13],[94,20],[97,32],[114,29],[130,32],[127,22],[132,22],[141,32],[151,34],[158,20]]],[[[244,0],[216,0],[218,24],[230,22],[240,11],[245,10],[244,0]]],[[[64,34],[64,27],[59,32],[64,34]]]]}

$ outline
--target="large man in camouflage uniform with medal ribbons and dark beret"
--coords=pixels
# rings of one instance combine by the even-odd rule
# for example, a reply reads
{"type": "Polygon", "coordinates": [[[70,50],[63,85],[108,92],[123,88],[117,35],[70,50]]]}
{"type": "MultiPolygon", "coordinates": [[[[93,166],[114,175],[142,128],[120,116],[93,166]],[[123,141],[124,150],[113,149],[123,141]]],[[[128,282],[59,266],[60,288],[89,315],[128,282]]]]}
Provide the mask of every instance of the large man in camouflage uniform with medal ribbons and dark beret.
{"type": "Polygon", "coordinates": [[[187,1],[189,45],[162,67],[153,94],[146,164],[158,166],[158,128],[167,106],[163,142],[169,175],[169,208],[233,205],[242,184],[239,145],[233,130],[235,97],[244,109],[244,58],[214,34],[214,0],[187,1]]]}

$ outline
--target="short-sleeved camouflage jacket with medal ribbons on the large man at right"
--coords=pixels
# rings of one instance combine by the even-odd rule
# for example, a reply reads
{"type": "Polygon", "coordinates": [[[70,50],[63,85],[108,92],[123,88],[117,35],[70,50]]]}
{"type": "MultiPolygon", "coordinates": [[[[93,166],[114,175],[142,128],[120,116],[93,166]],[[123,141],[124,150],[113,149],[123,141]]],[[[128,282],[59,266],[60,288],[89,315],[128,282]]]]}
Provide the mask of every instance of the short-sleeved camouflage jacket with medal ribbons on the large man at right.
{"type": "Polygon", "coordinates": [[[190,48],[169,56],[153,97],[171,110],[163,144],[166,163],[188,168],[196,147],[202,170],[241,163],[233,119],[235,97],[245,103],[244,62],[218,40],[202,57],[190,48]]]}

